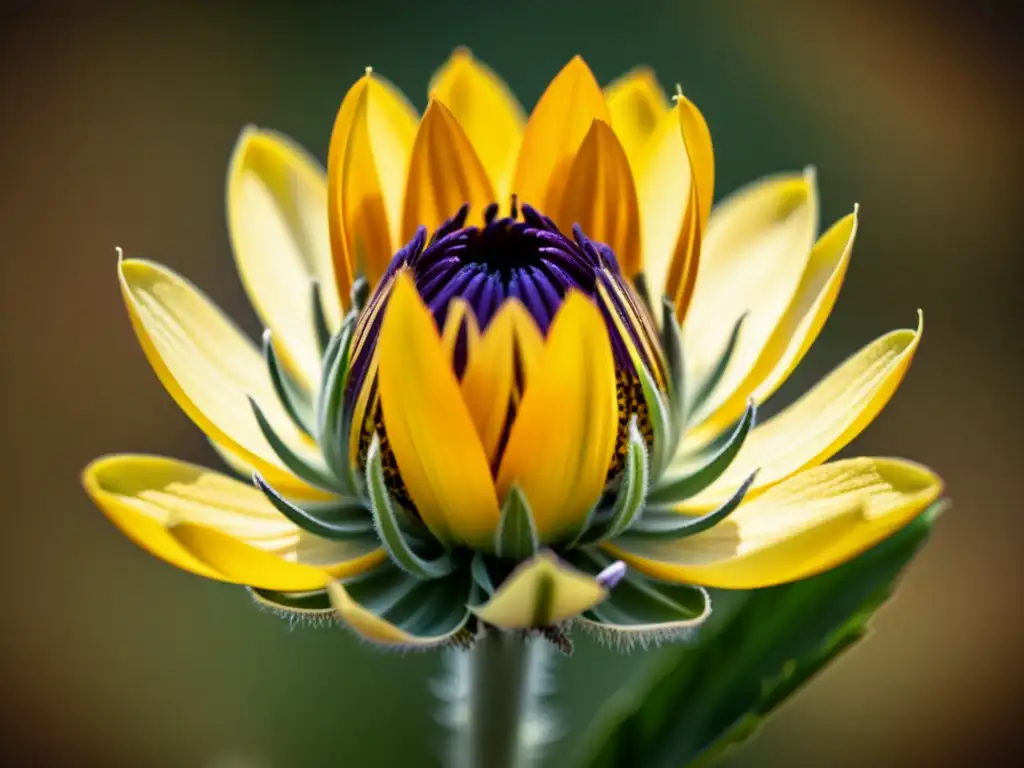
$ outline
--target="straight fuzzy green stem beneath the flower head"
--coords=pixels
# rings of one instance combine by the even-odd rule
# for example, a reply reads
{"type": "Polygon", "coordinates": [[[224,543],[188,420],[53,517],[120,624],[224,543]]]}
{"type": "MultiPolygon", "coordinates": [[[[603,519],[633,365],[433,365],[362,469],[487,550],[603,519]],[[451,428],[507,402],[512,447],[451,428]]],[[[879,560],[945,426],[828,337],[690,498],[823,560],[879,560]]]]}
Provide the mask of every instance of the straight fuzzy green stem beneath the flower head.
{"type": "Polygon", "coordinates": [[[490,630],[470,651],[470,768],[525,764],[523,726],[531,695],[531,645],[522,633],[490,630]]]}

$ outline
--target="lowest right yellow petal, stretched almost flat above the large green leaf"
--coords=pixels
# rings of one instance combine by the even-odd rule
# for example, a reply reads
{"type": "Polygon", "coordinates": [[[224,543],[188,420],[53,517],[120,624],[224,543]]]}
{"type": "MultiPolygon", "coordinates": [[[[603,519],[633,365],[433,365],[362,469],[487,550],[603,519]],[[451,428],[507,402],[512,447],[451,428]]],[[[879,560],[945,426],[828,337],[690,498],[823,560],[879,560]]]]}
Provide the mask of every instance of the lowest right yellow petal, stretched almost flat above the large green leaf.
{"type": "Polygon", "coordinates": [[[805,579],[874,546],[942,489],[898,459],[850,459],[801,472],[715,527],[675,542],[621,539],[609,550],[656,579],[757,589],[805,579]]]}

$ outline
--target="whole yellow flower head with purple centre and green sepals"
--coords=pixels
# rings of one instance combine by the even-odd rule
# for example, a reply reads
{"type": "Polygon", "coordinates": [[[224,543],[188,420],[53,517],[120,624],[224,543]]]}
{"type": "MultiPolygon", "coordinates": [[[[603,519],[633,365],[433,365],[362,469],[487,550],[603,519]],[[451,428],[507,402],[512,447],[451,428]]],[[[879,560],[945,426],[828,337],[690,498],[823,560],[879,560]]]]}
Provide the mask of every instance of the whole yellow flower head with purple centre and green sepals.
{"type": "Polygon", "coordinates": [[[155,371],[247,481],[122,455],[85,486],[168,562],[384,644],[671,636],[707,616],[702,586],[838,565],[941,490],[898,459],[824,463],[921,326],[757,424],[831,310],[857,211],[815,239],[813,173],[713,212],[714,176],[685,96],[644,70],[602,91],[579,57],[528,120],[466,50],[422,118],[368,71],[326,173],[247,128],[227,214],[262,352],[174,271],[118,264],[155,371]]]}

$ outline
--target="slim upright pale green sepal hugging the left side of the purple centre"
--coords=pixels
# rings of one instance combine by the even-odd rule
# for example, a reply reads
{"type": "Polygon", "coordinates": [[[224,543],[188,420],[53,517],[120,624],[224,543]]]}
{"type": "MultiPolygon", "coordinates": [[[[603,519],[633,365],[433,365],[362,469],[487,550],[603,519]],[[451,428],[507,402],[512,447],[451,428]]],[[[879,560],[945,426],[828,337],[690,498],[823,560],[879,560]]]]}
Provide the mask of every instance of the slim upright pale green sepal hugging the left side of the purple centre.
{"type": "Polygon", "coordinates": [[[355,313],[349,312],[342,321],[341,330],[328,345],[324,378],[316,400],[316,438],[324,452],[324,460],[349,496],[359,495],[348,461],[348,425],[342,414],[355,319],[355,313]]]}

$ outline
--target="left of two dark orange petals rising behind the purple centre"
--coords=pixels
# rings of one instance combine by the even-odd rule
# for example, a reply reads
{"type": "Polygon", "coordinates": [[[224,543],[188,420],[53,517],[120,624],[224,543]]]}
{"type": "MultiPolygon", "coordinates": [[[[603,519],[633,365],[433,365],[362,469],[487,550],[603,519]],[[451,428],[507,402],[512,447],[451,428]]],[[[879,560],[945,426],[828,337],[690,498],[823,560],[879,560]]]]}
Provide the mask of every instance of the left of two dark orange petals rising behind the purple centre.
{"type": "Polygon", "coordinates": [[[483,209],[495,200],[487,172],[459,121],[440,101],[431,100],[413,144],[401,242],[421,225],[433,231],[466,203],[470,223],[480,224],[483,209]]]}

